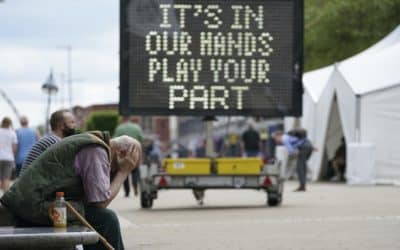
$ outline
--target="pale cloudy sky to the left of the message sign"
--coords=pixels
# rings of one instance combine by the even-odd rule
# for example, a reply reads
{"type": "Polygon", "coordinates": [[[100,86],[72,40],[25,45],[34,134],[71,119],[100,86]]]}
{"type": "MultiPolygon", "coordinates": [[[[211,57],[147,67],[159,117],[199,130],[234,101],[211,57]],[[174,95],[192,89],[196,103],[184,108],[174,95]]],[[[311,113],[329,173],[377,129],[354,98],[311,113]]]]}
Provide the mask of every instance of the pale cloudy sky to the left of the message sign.
{"type": "MultiPolygon", "coordinates": [[[[51,111],[69,108],[67,50],[72,47],[72,103],[119,101],[119,1],[0,1],[0,90],[30,125],[45,121],[47,95],[41,87],[53,70],[58,93],[51,111]]],[[[0,119],[12,109],[0,96],[0,119]]]]}

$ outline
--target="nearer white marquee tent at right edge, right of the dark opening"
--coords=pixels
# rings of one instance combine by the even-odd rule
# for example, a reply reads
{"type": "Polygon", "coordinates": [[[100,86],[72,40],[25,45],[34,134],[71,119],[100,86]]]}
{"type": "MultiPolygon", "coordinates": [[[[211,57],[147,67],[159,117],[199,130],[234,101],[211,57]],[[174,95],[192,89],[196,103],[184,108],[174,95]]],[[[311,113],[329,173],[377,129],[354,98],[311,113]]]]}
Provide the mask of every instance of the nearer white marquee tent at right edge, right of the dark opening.
{"type": "Polygon", "coordinates": [[[349,182],[400,184],[400,42],[343,62],[335,74],[344,134],[352,143],[349,182]]]}

